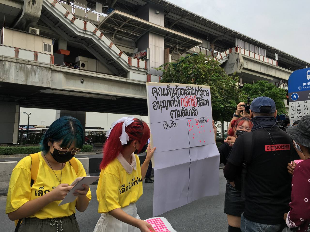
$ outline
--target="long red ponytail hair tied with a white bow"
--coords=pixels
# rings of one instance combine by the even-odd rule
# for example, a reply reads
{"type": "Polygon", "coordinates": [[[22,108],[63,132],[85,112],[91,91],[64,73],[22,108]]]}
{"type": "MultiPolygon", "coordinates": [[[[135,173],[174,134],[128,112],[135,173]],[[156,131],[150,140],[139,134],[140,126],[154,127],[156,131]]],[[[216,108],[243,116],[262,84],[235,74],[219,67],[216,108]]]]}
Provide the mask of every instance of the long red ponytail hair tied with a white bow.
{"type": "MultiPolygon", "coordinates": [[[[138,118],[134,118],[134,122],[132,122],[128,127],[125,127],[129,141],[127,141],[127,144],[122,145],[119,140],[119,136],[122,134],[122,125],[123,122],[117,123],[111,130],[108,139],[105,141],[103,148],[104,155],[100,163],[100,170],[104,169],[109,163],[111,163],[122,151],[122,148],[129,145],[132,141],[138,140],[141,144],[139,149],[142,149],[150,137],[150,129],[148,128],[146,122],[139,120],[138,118]]],[[[140,150],[138,152],[140,152],[140,150]]]]}

